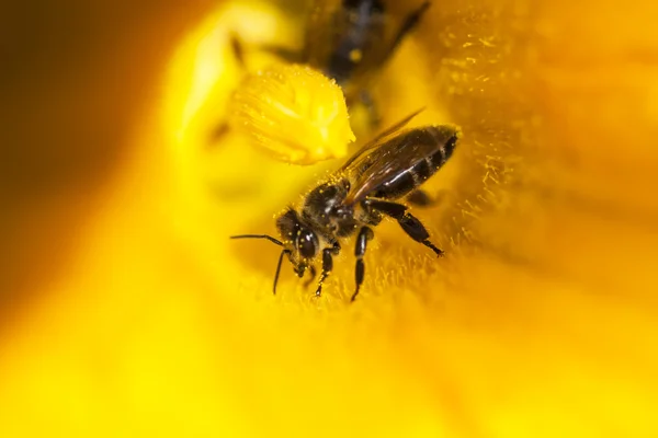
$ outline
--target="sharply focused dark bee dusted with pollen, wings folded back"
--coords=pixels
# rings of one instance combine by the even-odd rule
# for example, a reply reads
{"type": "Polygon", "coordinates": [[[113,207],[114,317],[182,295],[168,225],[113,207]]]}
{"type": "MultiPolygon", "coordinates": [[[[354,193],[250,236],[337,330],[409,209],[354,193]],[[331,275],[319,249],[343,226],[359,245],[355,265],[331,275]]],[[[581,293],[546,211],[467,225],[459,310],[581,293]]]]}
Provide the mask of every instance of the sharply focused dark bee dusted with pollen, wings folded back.
{"type": "Polygon", "coordinates": [[[322,272],[316,290],[316,296],[320,296],[322,284],[333,267],[332,256],[341,250],[340,240],[356,233],[353,301],[365,274],[363,256],[367,242],[374,238],[371,227],[379,224],[385,216],[395,219],[415,241],[439,256],[443,254],[429,240],[422,222],[397,200],[413,194],[441,169],[452,155],[461,134],[445,125],[399,131],[418,112],[365,143],[327,182],[311,189],[298,210],[291,207],[276,219],[281,240],[266,234],[231,237],[266,239],[283,247],[274,275],[274,293],[283,256],[287,255],[299,278],[306,269],[310,272],[307,285],[316,277],[316,260],[321,258],[322,272]]]}

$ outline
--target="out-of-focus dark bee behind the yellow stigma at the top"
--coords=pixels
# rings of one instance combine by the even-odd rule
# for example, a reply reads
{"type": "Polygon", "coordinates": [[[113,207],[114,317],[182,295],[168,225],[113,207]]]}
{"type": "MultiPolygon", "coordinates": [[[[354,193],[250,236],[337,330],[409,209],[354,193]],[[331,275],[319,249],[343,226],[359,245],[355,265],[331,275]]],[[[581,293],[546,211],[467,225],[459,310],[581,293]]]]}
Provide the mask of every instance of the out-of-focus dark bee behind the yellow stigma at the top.
{"type": "Polygon", "coordinates": [[[429,7],[429,1],[423,2],[395,28],[382,0],[317,0],[306,23],[302,50],[269,49],[336,79],[348,106],[361,101],[377,125],[379,116],[367,88],[429,7]]]}

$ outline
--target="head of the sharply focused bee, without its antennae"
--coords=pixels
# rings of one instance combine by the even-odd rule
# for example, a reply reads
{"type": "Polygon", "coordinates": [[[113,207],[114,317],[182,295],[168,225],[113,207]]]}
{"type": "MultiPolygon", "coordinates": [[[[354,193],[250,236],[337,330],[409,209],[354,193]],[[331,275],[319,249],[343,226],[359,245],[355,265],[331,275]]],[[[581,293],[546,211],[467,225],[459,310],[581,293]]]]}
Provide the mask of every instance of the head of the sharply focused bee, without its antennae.
{"type": "Polygon", "coordinates": [[[294,209],[288,209],[276,219],[276,229],[281,234],[283,245],[290,250],[291,262],[295,265],[297,275],[304,274],[307,261],[318,253],[317,234],[306,226],[294,209]]]}

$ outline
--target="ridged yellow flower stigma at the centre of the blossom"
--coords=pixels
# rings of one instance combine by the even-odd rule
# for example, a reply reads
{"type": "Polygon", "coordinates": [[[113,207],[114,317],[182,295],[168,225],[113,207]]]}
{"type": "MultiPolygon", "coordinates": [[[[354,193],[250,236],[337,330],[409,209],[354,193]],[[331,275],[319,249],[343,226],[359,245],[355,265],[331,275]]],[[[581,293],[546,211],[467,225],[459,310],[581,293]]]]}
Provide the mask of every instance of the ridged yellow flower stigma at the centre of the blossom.
{"type": "Polygon", "coordinates": [[[354,141],[340,87],[297,64],[248,73],[230,99],[228,117],[261,152],[292,164],[342,158],[354,141]]]}

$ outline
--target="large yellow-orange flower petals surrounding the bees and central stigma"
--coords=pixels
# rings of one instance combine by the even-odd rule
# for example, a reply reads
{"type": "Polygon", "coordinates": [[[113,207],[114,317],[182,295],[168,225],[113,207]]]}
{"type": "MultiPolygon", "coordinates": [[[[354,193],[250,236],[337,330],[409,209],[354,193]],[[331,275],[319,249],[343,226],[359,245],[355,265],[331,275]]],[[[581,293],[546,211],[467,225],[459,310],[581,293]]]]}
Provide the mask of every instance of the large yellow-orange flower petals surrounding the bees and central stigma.
{"type": "Polygon", "coordinates": [[[350,304],[353,241],[317,299],[228,240],[339,165],[217,135],[230,33],[302,2],[138,3],[0,14],[0,436],[658,434],[657,7],[435,2],[373,94],[463,131],[415,209],[446,256],[383,223],[350,304]]]}

